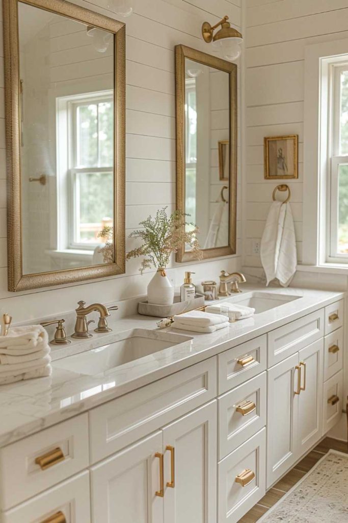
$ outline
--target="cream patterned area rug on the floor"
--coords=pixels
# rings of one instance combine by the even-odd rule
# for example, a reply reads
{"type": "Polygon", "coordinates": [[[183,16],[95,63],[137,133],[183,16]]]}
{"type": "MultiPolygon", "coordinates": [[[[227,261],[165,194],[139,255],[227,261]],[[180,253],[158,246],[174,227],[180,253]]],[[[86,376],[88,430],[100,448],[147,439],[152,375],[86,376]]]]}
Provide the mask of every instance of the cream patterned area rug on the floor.
{"type": "Polygon", "coordinates": [[[348,454],[330,450],[261,522],[348,523],[348,454]]]}

